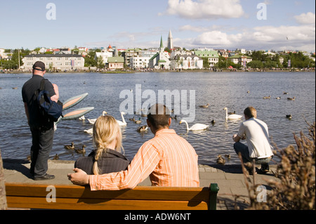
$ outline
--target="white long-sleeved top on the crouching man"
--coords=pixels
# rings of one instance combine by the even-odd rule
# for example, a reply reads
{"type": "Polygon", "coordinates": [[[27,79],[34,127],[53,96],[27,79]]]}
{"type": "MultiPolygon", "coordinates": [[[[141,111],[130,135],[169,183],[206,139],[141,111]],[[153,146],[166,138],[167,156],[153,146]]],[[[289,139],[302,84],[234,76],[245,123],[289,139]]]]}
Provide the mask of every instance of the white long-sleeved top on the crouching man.
{"type": "Polygon", "coordinates": [[[238,136],[240,138],[246,137],[251,158],[264,159],[273,155],[268,126],[265,122],[254,117],[242,122],[238,136]]]}

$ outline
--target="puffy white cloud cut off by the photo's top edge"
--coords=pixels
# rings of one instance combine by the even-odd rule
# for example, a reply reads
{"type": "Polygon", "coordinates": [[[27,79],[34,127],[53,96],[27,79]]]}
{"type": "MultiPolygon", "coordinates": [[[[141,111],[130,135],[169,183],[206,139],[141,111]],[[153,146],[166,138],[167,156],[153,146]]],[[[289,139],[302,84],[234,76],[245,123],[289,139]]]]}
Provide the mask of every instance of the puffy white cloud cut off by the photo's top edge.
{"type": "Polygon", "coordinates": [[[169,0],[166,14],[187,19],[215,20],[240,18],[244,10],[239,0],[169,0]]]}

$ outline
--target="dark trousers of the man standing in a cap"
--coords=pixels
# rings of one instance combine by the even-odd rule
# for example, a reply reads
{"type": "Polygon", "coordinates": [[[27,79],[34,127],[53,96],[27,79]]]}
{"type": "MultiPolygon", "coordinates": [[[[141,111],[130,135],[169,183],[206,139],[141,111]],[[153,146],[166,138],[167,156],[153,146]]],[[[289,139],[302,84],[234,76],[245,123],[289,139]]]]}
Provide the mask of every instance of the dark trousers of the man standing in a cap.
{"type": "Polygon", "coordinates": [[[38,129],[31,127],[31,167],[34,178],[44,176],[48,170],[48,157],[53,148],[54,129],[38,129]]]}

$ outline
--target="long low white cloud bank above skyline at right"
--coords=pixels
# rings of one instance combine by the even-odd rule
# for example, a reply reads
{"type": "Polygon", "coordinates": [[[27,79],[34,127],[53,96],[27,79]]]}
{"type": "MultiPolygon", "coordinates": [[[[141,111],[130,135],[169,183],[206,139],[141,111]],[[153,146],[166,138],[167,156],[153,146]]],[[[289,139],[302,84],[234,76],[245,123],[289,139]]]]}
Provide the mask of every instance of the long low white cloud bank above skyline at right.
{"type": "Polygon", "coordinates": [[[315,51],[315,25],[254,27],[237,34],[220,31],[204,32],[193,39],[191,44],[196,47],[213,48],[247,48],[249,50],[292,48],[315,51]]]}

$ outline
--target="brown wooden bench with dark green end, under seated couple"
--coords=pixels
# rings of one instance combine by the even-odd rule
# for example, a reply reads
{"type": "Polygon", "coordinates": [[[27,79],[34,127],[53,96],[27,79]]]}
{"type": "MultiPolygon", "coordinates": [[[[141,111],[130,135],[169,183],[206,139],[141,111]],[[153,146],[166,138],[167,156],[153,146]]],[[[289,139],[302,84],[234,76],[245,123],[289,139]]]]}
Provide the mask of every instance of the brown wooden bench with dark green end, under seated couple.
{"type": "Polygon", "coordinates": [[[88,186],[78,185],[6,183],[8,208],[27,209],[216,210],[217,192],[216,183],[210,187],[138,186],[117,191],[91,191],[88,186]]]}

